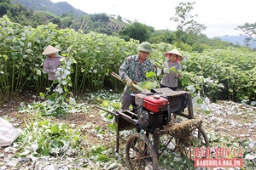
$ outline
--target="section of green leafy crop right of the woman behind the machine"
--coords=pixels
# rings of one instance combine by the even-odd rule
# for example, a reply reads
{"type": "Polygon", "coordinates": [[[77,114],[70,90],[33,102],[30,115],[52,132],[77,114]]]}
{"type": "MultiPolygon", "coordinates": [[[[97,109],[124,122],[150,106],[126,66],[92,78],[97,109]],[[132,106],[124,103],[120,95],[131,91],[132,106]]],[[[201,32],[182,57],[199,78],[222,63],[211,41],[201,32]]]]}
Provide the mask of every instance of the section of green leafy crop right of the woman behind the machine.
{"type": "Polygon", "coordinates": [[[204,85],[204,92],[212,99],[255,101],[255,54],[241,48],[205,50],[202,54],[191,53],[186,71],[197,76],[211,77],[224,88],[215,89],[204,85]]]}

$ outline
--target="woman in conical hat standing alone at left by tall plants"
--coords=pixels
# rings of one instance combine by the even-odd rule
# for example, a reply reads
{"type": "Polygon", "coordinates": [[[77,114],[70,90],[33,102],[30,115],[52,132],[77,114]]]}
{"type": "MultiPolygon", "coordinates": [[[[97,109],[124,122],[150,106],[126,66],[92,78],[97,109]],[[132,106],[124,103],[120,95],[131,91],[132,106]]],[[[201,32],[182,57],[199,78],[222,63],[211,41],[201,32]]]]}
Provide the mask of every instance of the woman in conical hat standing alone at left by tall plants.
{"type": "Polygon", "coordinates": [[[44,60],[44,72],[48,74],[50,93],[52,93],[56,88],[56,84],[53,84],[53,82],[55,81],[55,78],[56,78],[55,72],[59,67],[59,65],[61,64],[60,59],[62,58],[62,56],[55,55],[55,53],[59,51],[60,51],[59,49],[49,45],[44,49],[44,52],[43,52],[43,55],[48,55],[48,58],[44,60]]]}

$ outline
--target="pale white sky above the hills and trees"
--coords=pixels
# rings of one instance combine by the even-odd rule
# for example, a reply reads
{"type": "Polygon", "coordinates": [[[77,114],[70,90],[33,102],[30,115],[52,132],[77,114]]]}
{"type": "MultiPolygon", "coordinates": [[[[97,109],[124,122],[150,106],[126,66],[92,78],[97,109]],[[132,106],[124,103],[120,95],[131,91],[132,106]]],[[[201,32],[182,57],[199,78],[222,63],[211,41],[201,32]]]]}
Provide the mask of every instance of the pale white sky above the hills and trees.
{"type": "Polygon", "coordinates": [[[87,14],[120,15],[123,20],[137,21],[154,30],[175,31],[177,23],[170,20],[175,16],[179,3],[193,3],[189,14],[197,14],[194,20],[207,26],[203,31],[207,37],[225,35],[238,36],[237,26],[256,22],[256,0],[50,0],[53,3],[67,2],[87,14]]]}

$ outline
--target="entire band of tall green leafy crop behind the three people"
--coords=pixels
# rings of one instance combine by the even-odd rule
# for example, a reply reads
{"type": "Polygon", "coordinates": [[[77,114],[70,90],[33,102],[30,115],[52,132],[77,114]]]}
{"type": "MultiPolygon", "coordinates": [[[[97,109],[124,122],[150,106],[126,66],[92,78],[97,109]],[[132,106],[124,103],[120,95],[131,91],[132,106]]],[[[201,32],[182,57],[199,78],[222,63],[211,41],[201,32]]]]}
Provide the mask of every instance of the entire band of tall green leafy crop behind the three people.
{"type": "MultiPolygon", "coordinates": [[[[74,94],[102,88],[122,90],[122,82],[110,73],[118,72],[125,57],[137,54],[137,40],[125,41],[119,37],[90,32],[81,34],[73,29],[58,29],[49,23],[37,28],[20,26],[7,16],[1,18],[1,97],[14,96],[24,89],[44,92],[48,87],[42,72],[44,47],[51,44],[67,56],[72,47],[74,63],[69,87],[74,94]]],[[[149,58],[162,64],[166,51],[177,48],[170,43],[153,44],[154,53],[149,58]]],[[[255,101],[255,54],[248,49],[209,49],[202,53],[181,50],[183,78],[181,89],[192,90],[210,99],[255,101]],[[189,87],[189,88],[188,88],[189,87]],[[223,87],[223,88],[222,88],[223,87]],[[194,90],[195,89],[195,90],[194,90]]]]}

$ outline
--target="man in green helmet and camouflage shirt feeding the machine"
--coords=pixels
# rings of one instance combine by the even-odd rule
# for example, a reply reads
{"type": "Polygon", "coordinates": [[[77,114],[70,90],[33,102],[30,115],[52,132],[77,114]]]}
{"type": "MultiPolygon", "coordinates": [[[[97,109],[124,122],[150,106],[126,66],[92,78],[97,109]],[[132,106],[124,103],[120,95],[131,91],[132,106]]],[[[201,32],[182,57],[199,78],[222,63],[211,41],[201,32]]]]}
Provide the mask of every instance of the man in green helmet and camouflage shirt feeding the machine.
{"type": "Polygon", "coordinates": [[[119,68],[119,76],[126,82],[122,96],[122,111],[129,109],[131,94],[139,93],[131,88],[131,83],[144,82],[147,80],[146,72],[155,71],[154,64],[148,59],[148,54],[152,53],[151,44],[142,42],[137,49],[139,54],[127,57],[119,68]]]}

